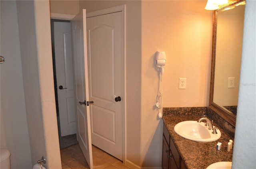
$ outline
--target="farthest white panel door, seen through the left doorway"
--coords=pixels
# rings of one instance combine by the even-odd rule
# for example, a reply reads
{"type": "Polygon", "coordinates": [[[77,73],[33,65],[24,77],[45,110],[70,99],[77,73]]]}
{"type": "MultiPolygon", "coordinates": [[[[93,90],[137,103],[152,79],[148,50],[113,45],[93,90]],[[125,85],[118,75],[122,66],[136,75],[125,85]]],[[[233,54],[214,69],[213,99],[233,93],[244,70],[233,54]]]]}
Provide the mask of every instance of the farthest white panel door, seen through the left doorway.
{"type": "Polygon", "coordinates": [[[54,53],[61,136],[76,133],[70,22],[54,22],[54,53]]]}

